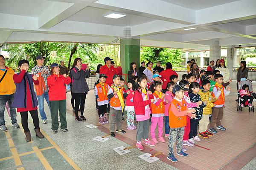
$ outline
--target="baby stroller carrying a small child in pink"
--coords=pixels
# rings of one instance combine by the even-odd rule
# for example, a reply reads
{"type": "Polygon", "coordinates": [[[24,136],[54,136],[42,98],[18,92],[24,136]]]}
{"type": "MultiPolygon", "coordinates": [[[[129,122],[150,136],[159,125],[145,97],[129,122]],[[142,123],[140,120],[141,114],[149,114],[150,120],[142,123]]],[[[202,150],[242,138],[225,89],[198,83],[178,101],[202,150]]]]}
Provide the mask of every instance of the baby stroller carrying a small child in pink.
{"type": "MultiPolygon", "coordinates": [[[[255,95],[255,93],[253,93],[253,83],[252,83],[252,81],[250,81],[250,80],[248,80],[248,79],[245,79],[245,80],[243,80],[243,81],[239,81],[238,87],[237,87],[237,89],[238,89],[238,98],[239,98],[239,101],[238,101],[238,104],[237,104],[237,111],[238,111],[238,110],[241,110],[241,111],[242,111],[241,101],[243,101],[244,99],[241,98],[241,96],[240,96],[240,94],[239,94],[239,90],[242,89],[242,87],[244,86],[244,84],[247,84],[247,85],[249,86],[249,92],[250,92],[250,94],[253,95],[253,96],[255,95]]],[[[254,96],[254,97],[255,97],[255,96],[254,96]]],[[[249,100],[250,100],[250,99],[249,99],[249,100]]],[[[254,99],[253,101],[255,101],[255,99],[254,99]]],[[[248,101],[245,102],[244,107],[248,107],[248,101]]],[[[252,105],[251,108],[249,107],[249,112],[250,112],[250,111],[253,111],[253,112],[254,112],[254,106],[253,106],[253,105],[252,105]]]]}

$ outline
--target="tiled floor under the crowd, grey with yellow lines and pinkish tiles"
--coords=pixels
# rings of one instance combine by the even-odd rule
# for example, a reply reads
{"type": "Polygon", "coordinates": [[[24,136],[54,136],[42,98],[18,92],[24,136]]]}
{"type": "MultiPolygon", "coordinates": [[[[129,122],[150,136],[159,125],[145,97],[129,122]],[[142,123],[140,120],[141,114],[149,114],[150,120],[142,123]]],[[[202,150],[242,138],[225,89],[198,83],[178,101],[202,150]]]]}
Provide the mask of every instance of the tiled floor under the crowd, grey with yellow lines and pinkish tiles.
{"type": "MultiPolygon", "coordinates": [[[[248,108],[237,111],[235,99],[236,86],[231,84],[232,92],[226,98],[224,108],[223,126],[226,132],[219,132],[209,139],[202,139],[194,147],[188,149],[188,157],[177,156],[179,162],[172,163],[166,159],[168,154],[168,138],[165,143],[158,143],[155,147],[145,147],[143,152],[151,154],[160,152],[159,161],[149,164],[140,158],[142,151],[131,149],[131,153],[119,156],[112,148],[118,146],[134,146],[136,143],[136,130],[126,130],[126,121],[122,127],[126,134],[116,134],[104,144],[92,141],[92,138],[108,134],[108,124],[99,125],[95,109],[94,92],[88,92],[84,115],[86,122],[74,120],[70,102],[70,92],[67,93],[67,123],[68,132],[59,131],[53,134],[49,108],[46,106],[48,124],[40,124],[46,138],[39,139],[33,132],[33,124],[29,119],[32,133],[32,142],[24,139],[22,128],[14,129],[6,118],[9,130],[0,132],[0,169],[5,170],[39,170],[39,169],[180,169],[180,170],[244,170],[255,168],[256,150],[256,112],[249,112],[248,108]],[[85,127],[87,124],[96,124],[97,129],[85,127]],[[17,153],[15,153],[16,151],[17,153]],[[252,157],[253,156],[253,157],[252,157]],[[252,160],[253,159],[253,160],[252,160]],[[239,161],[240,160],[240,161],[239,161]],[[252,161],[251,161],[252,160],[252,161]],[[250,161],[250,163],[249,163],[250,161]],[[117,163],[118,162],[118,163],[117,163]],[[240,163],[242,162],[242,163],[240,163]],[[235,165],[235,166],[234,166],[235,165]]],[[[256,89],[256,82],[254,82],[256,89]]],[[[256,90],[255,90],[256,91],[256,90]]],[[[255,103],[256,104],[256,103],[255,103]]],[[[17,113],[18,123],[20,116],[17,113]]],[[[256,168],[255,168],[256,169],[256,168]]]]}

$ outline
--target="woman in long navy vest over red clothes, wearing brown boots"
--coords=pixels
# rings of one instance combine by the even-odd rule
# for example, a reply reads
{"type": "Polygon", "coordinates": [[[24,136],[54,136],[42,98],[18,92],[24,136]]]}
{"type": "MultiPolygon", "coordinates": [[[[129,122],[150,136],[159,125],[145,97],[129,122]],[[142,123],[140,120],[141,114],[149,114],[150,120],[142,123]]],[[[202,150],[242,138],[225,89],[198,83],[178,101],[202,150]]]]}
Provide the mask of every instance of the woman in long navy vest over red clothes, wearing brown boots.
{"type": "Polygon", "coordinates": [[[26,135],[26,141],[31,141],[31,135],[28,127],[28,111],[33,119],[35,126],[35,135],[39,138],[44,138],[40,132],[38,119],[38,100],[34,91],[34,84],[38,85],[38,75],[31,75],[28,73],[29,61],[20,60],[18,62],[20,72],[13,75],[13,80],[16,85],[16,92],[14,95],[12,107],[17,108],[20,112],[21,124],[26,135]],[[33,76],[33,77],[32,77],[33,76]],[[33,84],[34,83],[34,84],[33,84]]]}

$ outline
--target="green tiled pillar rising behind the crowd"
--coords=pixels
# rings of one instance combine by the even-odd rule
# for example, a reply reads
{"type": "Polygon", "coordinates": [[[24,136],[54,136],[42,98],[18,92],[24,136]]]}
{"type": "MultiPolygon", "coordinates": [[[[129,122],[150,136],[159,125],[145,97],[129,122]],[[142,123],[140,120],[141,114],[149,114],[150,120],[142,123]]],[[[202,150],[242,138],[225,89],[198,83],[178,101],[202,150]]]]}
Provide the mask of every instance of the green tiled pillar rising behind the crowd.
{"type": "MultiPolygon", "coordinates": [[[[127,74],[130,63],[135,62],[140,67],[140,39],[123,38],[120,40],[120,64],[123,74],[127,74]]],[[[124,77],[125,78],[125,77],[124,77]]],[[[128,80],[128,78],[127,78],[128,80]]]]}

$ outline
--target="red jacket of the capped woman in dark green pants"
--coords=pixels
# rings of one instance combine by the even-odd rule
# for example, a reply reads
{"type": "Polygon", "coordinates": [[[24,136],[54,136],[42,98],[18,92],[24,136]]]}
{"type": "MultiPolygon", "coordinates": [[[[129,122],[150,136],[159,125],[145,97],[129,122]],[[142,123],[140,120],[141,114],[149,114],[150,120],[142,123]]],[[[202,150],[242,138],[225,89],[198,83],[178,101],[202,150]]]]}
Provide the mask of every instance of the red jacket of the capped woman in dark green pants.
{"type": "Polygon", "coordinates": [[[49,101],[65,100],[67,98],[65,84],[70,84],[70,82],[70,77],[64,78],[63,75],[50,75],[47,77],[49,101]]]}

